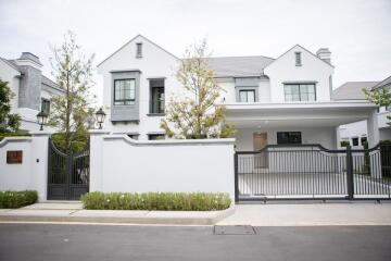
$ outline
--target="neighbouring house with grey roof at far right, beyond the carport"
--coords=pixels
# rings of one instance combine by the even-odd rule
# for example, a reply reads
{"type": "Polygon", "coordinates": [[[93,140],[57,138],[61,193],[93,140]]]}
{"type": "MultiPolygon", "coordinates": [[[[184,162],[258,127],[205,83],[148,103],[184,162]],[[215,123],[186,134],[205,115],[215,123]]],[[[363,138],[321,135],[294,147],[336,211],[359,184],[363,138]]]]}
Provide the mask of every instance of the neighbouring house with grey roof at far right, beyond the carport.
{"type": "MultiPolygon", "coordinates": [[[[382,82],[348,82],[331,94],[332,100],[366,100],[363,89],[375,90],[379,88],[390,88],[391,76],[382,82]]],[[[391,113],[391,107],[378,109],[379,138],[391,139],[391,127],[387,124],[387,116],[391,113]]],[[[340,141],[349,141],[351,146],[361,148],[367,140],[367,121],[360,121],[339,127],[340,141]]]]}

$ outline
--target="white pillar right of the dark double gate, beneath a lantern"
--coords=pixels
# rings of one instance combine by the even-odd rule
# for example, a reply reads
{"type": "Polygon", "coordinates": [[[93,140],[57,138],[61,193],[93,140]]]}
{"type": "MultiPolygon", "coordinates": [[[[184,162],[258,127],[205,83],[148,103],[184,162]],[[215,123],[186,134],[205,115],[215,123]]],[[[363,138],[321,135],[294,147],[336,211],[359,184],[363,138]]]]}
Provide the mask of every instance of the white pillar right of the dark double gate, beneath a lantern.
{"type": "Polygon", "coordinates": [[[103,190],[103,136],[104,129],[90,129],[90,191],[103,190]]]}

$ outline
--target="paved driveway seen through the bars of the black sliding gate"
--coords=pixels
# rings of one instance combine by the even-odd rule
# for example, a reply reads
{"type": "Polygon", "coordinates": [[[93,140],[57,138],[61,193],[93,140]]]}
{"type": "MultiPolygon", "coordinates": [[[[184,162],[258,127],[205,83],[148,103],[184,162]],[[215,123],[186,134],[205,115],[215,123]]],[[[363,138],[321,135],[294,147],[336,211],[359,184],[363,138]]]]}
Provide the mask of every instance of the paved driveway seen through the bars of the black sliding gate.
{"type": "MultiPolygon", "coordinates": [[[[324,196],[344,197],[348,195],[346,174],[342,173],[245,173],[239,174],[239,191],[245,196],[324,196]]],[[[389,182],[370,176],[354,175],[355,195],[389,197],[389,182]]]]}

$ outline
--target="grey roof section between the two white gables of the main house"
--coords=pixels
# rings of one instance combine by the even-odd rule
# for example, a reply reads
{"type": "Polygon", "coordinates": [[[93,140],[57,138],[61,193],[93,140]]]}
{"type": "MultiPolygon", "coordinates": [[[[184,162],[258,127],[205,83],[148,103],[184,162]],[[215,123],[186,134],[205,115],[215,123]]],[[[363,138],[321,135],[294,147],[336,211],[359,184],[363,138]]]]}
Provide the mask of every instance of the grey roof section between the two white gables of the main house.
{"type": "Polygon", "coordinates": [[[216,77],[263,76],[263,70],[274,61],[268,57],[216,57],[209,58],[209,65],[216,77]]]}

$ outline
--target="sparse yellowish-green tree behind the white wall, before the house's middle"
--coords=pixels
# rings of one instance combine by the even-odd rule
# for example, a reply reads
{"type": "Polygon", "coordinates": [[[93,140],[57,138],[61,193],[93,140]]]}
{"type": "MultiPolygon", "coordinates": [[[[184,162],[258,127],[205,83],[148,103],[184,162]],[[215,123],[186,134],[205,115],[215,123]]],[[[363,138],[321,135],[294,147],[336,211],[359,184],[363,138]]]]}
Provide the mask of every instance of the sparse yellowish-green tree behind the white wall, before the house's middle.
{"type": "Polygon", "coordinates": [[[182,97],[172,97],[161,128],[168,137],[179,139],[225,138],[235,126],[225,123],[222,88],[209,67],[206,41],[187,49],[176,77],[184,88],[182,97]]]}

